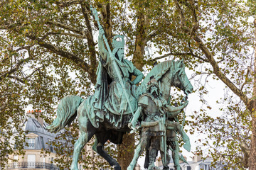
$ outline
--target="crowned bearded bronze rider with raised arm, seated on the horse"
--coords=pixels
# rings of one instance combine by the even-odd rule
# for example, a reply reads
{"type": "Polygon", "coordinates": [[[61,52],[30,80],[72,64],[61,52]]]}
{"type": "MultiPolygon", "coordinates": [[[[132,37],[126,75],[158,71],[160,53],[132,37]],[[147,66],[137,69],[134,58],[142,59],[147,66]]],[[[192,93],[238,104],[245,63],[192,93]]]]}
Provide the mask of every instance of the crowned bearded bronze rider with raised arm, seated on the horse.
{"type": "Polygon", "coordinates": [[[93,102],[95,126],[98,127],[98,122],[102,122],[106,115],[105,118],[110,123],[116,128],[121,128],[132,118],[130,113],[137,111],[137,99],[132,94],[132,86],[138,84],[144,75],[132,62],[124,59],[123,35],[116,35],[112,40],[114,57],[110,57],[111,54],[107,52],[103,35],[104,30],[100,28],[98,42],[101,58],[93,102]],[[114,67],[114,64],[117,64],[117,67],[114,67]],[[136,77],[134,81],[131,81],[132,75],[136,77]],[[118,76],[121,76],[122,80],[118,76]]]}

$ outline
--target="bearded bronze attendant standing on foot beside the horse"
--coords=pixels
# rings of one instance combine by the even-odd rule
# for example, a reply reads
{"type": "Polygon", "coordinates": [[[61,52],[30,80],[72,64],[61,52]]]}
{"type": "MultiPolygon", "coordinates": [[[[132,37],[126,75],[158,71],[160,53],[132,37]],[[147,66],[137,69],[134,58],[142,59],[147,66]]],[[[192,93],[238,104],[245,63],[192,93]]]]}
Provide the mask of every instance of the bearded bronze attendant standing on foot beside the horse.
{"type": "Polygon", "coordinates": [[[169,169],[168,163],[170,160],[167,152],[166,145],[166,112],[169,116],[176,116],[180,111],[188,105],[188,101],[183,103],[182,106],[172,107],[167,101],[162,98],[161,91],[159,89],[158,82],[156,79],[151,79],[146,89],[146,93],[139,97],[138,110],[134,114],[129,128],[135,129],[139,123],[138,120],[142,118],[141,127],[141,138],[139,144],[134,153],[131,164],[129,164],[128,170],[133,170],[137,164],[139,155],[142,154],[144,148],[149,147],[149,164],[147,165],[149,170],[158,169],[154,166],[157,152],[160,151],[164,169],[169,169]]]}

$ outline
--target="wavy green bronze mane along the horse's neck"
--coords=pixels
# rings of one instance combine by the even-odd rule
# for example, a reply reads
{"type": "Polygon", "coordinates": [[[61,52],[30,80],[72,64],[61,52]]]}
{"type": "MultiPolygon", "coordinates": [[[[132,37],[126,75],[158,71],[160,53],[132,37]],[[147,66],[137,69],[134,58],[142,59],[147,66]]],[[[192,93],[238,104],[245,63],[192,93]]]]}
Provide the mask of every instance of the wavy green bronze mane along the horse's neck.
{"type": "Polygon", "coordinates": [[[164,74],[166,74],[166,72],[170,69],[171,65],[174,62],[174,60],[161,62],[157,64],[153,69],[151,69],[149,74],[146,75],[144,81],[142,81],[141,86],[139,86],[138,88],[139,94],[143,94],[146,91],[146,86],[149,83],[151,76],[154,76],[154,79],[156,79],[156,81],[159,81],[161,77],[163,77],[164,74]]]}

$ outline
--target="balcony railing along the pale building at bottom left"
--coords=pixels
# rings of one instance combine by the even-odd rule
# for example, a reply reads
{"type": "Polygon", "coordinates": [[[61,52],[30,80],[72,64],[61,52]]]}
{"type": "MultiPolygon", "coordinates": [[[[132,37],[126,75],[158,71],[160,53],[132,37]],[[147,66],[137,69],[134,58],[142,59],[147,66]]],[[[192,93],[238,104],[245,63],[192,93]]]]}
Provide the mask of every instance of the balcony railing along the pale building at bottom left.
{"type": "Polygon", "coordinates": [[[48,164],[44,162],[14,162],[8,164],[7,169],[51,169],[59,170],[55,164],[48,164]]]}

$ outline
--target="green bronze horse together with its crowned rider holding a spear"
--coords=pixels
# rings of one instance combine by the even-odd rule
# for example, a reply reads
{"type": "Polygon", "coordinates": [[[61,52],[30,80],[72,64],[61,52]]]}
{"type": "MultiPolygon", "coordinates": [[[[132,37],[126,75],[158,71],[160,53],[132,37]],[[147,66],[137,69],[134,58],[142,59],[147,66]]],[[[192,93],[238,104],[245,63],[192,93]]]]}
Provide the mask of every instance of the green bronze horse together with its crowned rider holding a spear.
{"type": "MultiPolygon", "coordinates": [[[[66,125],[70,125],[76,116],[78,116],[80,137],[77,142],[75,142],[73,162],[70,169],[78,170],[79,154],[85,144],[95,135],[95,142],[92,149],[106,159],[110,166],[114,166],[115,170],[121,170],[118,162],[105,152],[104,144],[107,140],[110,140],[110,142],[114,144],[121,144],[122,136],[130,132],[128,123],[131,122],[132,119],[132,123],[137,119],[134,118],[135,112],[135,116],[138,117],[142,111],[140,105],[139,110],[137,110],[137,101],[139,100],[139,102],[142,103],[142,98],[150,98],[146,96],[146,94],[153,95],[149,92],[150,88],[148,87],[148,83],[151,82],[150,77],[154,77],[154,81],[158,84],[157,88],[161,91],[162,99],[159,99],[159,104],[156,104],[155,109],[159,111],[159,119],[161,118],[161,121],[165,122],[159,128],[166,129],[166,135],[155,135],[156,141],[159,141],[159,137],[164,137],[165,140],[160,141],[167,145],[171,142],[170,145],[174,146],[171,148],[177,152],[178,149],[175,148],[178,148],[178,144],[173,140],[175,138],[174,130],[176,130],[181,133],[183,140],[189,148],[189,140],[186,138],[186,134],[181,130],[179,123],[174,123],[174,121],[170,122],[168,120],[180,113],[181,108],[184,108],[187,103],[183,103],[183,106],[177,108],[171,107],[166,103],[170,96],[171,86],[176,86],[183,90],[186,96],[193,91],[193,86],[186,76],[183,61],[175,62],[172,60],[161,62],[151,69],[151,72],[149,72],[142,81],[144,77],[142,72],[134,67],[132,62],[124,59],[124,37],[117,35],[113,38],[113,51],[111,51],[110,46],[107,44],[104,30],[102,26],[100,26],[100,22],[97,18],[97,11],[92,8],[92,13],[95,15],[95,20],[98,22],[100,28],[98,44],[101,57],[97,69],[95,94],[89,96],[86,100],[79,96],[65,96],[58,105],[57,118],[48,126],[50,132],[58,132],[65,128],[66,125]],[[134,81],[131,81],[132,75],[137,77],[134,81]],[[140,86],[134,86],[138,84],[139,81],[142,81],[142,84],[140,86]],[[160,101],[163,101],[163,103],[160,101]],[[163,107],[161,108],[161,106],[163,107]],[[166,111],[161,111],[162,109],[166,111]],[[168,136],[169,130],[174,132],[174,134],[168,136]]],[[[153,86],[151,88],[153,88],[153,86]]],[[[151,99],[153,100],[154,98],[151,99]]],[[[147,122],[148,120],[144,120],[142,124],[147,122]]],[[[152,141],[154,141],[154,139],[152,141]]],[[[159,147],[156,146],[155,149],[159,149],[159,147]]],[[[161,149],[161,152],[166,152],[167,149],[168,146],[166,146],[166,149],[161,149]]],[[[149,152],[153,151],[149,149],[149,152]]],[[[134,157],[135,156],[136,155],[134,155],[134,157]]],[[[169,155],[165,154],[164,157],[166,157],[167,160],[169,155]]],[[[148,164],[151,166],[150,161],[148,164]]]]}

